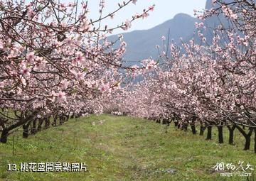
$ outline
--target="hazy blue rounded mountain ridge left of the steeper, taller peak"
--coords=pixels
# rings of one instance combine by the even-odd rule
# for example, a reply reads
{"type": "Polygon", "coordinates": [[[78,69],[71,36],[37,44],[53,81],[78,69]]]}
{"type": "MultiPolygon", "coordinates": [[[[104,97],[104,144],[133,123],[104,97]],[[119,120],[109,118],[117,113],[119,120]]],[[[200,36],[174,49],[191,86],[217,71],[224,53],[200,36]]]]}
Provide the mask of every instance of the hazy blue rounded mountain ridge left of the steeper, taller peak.
{"type": "MultiPolygon", "coordinates": [[[[156,45],[163,46],[161,37],[168,37],[170,29],[170,40],[180,42],[183,39],[192,38],[195,30],[197,18],[193,18],[185,13],[178,13],[173,19],[161,23],[149,30],[132,31],[123,33],[124,41],[127,43],[127,52],[124,55],[124,60],[127,60],[127,65],[134,65],[140,60],[149,58],[157,58],[159,53],[156,45]]],[[[116,40],[117,35],[108,37],[108,40],[116,40]]]]}

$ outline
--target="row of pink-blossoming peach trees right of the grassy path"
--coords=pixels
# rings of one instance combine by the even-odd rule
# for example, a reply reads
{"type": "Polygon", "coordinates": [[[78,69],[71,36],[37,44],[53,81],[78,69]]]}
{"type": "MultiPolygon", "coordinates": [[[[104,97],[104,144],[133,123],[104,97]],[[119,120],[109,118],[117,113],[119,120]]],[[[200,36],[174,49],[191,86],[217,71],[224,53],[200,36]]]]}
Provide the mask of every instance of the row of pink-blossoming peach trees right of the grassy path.
{"type": "Polygon", "coordinates": [[[191,126],[193,133],[201,126],[201,134],[207,128],[208,139],[217,126],[219,143],[223,143],[223,126],[230,131],[231,144],[238,128],[248,150],[250,137],[256,134],[256,7],[249,0],[213,3],[213,9],[198,14],[200,43],[196,38],[181,46],[170,43],[170,53],[159,55],[161,65],[151,66],[151,72],[132,88],[112,94],[107,109],[163,119],[164,124],[174,120],[181,128],[191,126]],[[204,25],[203,20],[213,16],[224,16],[230,27],[204,25]],[[213,40],[206,40],[208,31],[213,40]]]}

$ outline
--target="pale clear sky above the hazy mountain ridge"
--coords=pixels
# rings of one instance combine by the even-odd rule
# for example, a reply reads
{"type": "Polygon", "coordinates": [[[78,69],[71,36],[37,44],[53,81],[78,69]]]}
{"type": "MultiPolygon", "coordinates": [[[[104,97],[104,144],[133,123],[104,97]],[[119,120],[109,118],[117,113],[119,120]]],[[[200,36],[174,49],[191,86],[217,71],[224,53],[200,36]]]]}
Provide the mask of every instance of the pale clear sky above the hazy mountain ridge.
{"type": "MultiPolygon", "coordinates": [[[[99,1],[100,0],[88,0],[88,6],[90,8],[89,17],[92,19],[97,19],[99,17],[99,1]]],[[[118,8],[118,3],[122,1],[119,0],[105,0],[105,10],[103,14],[107,15],[108,13],[114,11],[118,8]]],[[[177,13],[187,13],[193,16],[193,10],[203,10],[206,6],[206,0],[138,0],[137,4],[130,4],[129,6],[121,9],[113,19],[108,18],[102,22],[102,27],[106,24],[110,27],[114,27],[118,24],[121,24],[123,21],[126,21],[135,13],[141,13],[143,9],[147,9],[149,6],[155,4],[154,11],[150,12],[148,18],[139,19],[132,23],[132,28],[129,28],[128,31],[123,31],[119,29],[114,31],[114,34],[125,33],[134,30],[144,30],[153,28],[164,21],[167,21],[177,13]]]]}

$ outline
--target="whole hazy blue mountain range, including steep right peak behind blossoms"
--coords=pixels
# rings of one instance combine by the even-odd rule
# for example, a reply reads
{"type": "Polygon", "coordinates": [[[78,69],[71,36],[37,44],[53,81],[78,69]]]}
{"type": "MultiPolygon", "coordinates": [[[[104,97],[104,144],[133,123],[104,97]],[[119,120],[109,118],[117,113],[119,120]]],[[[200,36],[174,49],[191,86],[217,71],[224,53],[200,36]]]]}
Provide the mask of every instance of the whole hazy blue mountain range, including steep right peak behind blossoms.
{"type": "MultiPolygon", "coordinates": [[[[234,0],[223,0],[225,3],[230,3],[234,0]]],[[[255,1],[256,0],[251,0],[255,1]]],[[[212,0],[206,1],[206,9],[218,8],[220,5],[215,4],[213,6],[212,0]]],[[[163,47],[163,40],[161,37],[164,35],[166,40],[170,30],[170,41],[173,40],[178,45],[181,45],[180,38],[183,38],[184,42],[188,42],[191,38],[194,38],[195,43],[201,43],[200,38],[194,32],[196,31],[195,23],[201,22],[198,18],[193,18],[185,13],[178,13],[174,18],[159,26],[155,26],[149,30],[132,31],[129,33],[123,33],[124,41],[127,43],[127,52],[124,54],[124,62],[126,66],[137,64],[141,60],[152,57],[157,60],[159,52],[156,49],[156,45],[163,47]]],[[[223,28],[230,27],[230,20],[223,15],[212,16],[206,18],[203,23],[206,25],[206,32],[203,34],[206,37],[206,42],[210,45],[213,39],[213,29],[218,25],[222,25],[223,28]]],[[[118,35],[111,35],[108,40],[117,40],[118,35]]],[[[118,45],[118,44],[117,44],[118,45]]],[[[116,45],[116,46],[117,46],[116,45]]],[[[162,49],[161,49],[162,50],[162,49]]]]}

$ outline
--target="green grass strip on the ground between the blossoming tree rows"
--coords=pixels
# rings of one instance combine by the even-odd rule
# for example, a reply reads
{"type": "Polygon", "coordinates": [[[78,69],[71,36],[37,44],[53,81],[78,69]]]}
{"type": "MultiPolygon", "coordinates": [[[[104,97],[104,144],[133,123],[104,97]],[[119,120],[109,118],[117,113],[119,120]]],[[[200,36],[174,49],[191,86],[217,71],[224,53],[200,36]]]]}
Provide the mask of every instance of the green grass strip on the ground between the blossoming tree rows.
{"type": "MultiPolygon", "coordinates": [[[[0,180],[247,180],[220,177],[216,163],[242,160],[256,166],[252,150],[244,151],[235,132],[235,146],[205,141],[191,131],[127,116],[92,115],[48,128],[27,139],[21,133],[0,144],[0,180]],[[105,119],[103,124],[100,120],[105,119]],[[95,122],[96,125],[92,125],[95,122]],[[15,140],[13,155],[13,138],[15,140]],[[9,163],[86,163],[87,172],[7,172],[9,163]],[[167,169],[176,172],[166,172],[167,169]]],[[[253,144],[252,146],[253,147],[253,144]]],[[[255,168],[256,169],[256,168],[255,168]]]]}

